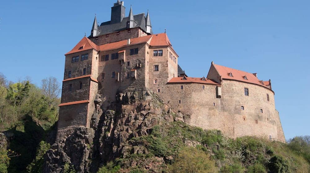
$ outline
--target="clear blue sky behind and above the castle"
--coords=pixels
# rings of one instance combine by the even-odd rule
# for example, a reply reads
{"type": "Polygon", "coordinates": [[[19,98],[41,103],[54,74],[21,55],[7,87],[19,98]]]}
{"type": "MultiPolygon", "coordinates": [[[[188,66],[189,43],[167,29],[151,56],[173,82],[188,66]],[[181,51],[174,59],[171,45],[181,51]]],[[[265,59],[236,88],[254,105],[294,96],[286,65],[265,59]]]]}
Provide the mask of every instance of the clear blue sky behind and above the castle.
{"type": "MultiPolygon", "coordinates": [[[[64,54],[90,34],[94,14],[110,20],[116,0],[2,1],[0,72],[11,81],[63,79],[64,54]]],[[[310,135],[310,1],[125,0],[126,15],[149,10],[154,33],[167,29],[188,76],[215,64],[271,79],[287,139],[310,135]],[[144,3],[148,2],[148,3],[144,3]]]]}

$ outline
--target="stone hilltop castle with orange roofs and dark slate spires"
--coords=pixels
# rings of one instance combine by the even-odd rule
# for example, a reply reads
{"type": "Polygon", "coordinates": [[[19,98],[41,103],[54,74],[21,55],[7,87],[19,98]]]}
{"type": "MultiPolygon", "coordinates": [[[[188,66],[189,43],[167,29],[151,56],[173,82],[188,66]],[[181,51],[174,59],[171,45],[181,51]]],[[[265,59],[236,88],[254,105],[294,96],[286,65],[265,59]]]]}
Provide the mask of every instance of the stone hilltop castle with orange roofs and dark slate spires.
{"type": "Polygon", "coordinates": [[[97,93],[105,109],[118,92],[147,88],[188,117],[187,124],[220,129],[232,138],[285,141],[270,80],[213,62],[206,78],[192,78],[178,61],[167,34],[153,34],[150,15],[134,15],[131,8],[125,17],[118,0],[111,20],[98,26],[95,16],[91,35],[65,54],[57,136],[90,127],[97,93]]]}

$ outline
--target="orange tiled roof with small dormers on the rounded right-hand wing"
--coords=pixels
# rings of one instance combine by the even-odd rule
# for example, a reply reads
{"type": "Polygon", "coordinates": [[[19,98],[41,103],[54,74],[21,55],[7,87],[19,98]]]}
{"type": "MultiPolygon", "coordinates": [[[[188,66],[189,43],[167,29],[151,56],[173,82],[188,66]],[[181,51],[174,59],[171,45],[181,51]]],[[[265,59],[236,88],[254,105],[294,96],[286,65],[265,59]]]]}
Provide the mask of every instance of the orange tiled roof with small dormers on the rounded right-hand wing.
{"type": "Polygon", "coordinates": [[[262,84],[262,82],[258,78],[256,78],[254,74],[252,73],[232,69],[232,68],[225,67],[222,65],[217,65],[217,64],[213,64],[213,65],[215,69],[217,70],[217,72],[219,73],[219,75],[222,76],[223,79],[232,79],[232,80],[248,82],[248,83],[253,83],[253,84],[267,87],[265,84],[262,84]],[[232,73],[232,76],[229,76],[230,73],[232,73]],[[245,79],[245,76],[247,79],[245,79]]]}

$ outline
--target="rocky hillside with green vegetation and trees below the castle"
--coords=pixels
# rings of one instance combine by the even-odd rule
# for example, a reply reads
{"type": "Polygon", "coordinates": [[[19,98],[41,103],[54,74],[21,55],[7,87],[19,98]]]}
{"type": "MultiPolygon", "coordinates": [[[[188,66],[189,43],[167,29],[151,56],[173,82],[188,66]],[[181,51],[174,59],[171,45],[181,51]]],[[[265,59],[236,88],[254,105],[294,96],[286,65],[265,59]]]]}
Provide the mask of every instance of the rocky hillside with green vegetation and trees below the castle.
{"type": "MultiPolygon", "coordinates": [[[[29,91],[40,92],[32,86],[24,82],[18,90],[23,97],[13,98],[25,107],[29,100],[34,103],[37,99],[31,98],[38,97],[29,91]],[[28,90],[26,85],[36,90],[28,90]]],[[[2,86],[2,91],[7,93],[10,86],[2,86]]],[[[36,107],[23,108],[28,112],[20,112],[17,126],[15,121],[2,123],[0,172],[310,172],[310,146],[300,137],[288,144],[255,137],[230,139],[218,130],[185,124],[182,113],[163,104],[151,91],[120,93],[107,111],[101,109],[99,100],[92,128],[77,128],[56,143],[55,114],[43,116],[54,110],[43,109],[50,103],[45,97],[37,100],[41,104],[36,107]],[[32,111],[34,108],[41,112],[32,111]]]]}

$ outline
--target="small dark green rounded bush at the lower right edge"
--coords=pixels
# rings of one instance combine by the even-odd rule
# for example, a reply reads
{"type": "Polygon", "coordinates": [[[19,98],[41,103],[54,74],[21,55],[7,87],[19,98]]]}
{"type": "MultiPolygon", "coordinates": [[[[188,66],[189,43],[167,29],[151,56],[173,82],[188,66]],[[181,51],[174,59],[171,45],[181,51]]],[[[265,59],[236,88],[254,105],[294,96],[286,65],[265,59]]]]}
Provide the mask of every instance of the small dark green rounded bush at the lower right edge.
{"type": "Polygon", "coordinates": [[[274,173],[285,173],[289,169],[289,165],[286,159],[281,156],[273,156],[268,163],[269,171],[274,173]]]}

